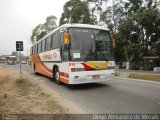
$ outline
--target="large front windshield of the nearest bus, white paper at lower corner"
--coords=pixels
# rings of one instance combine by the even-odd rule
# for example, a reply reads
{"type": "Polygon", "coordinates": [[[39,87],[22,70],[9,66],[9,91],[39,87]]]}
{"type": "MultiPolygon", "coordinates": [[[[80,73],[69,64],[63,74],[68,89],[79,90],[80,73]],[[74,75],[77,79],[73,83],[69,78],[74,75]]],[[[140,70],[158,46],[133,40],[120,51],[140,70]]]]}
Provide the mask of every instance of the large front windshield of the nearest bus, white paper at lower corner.
{"type": "Polygon", "coordinates": [[[70,28],[71,61],[112,61],[113,51],[109,31],[70,28]]]}

